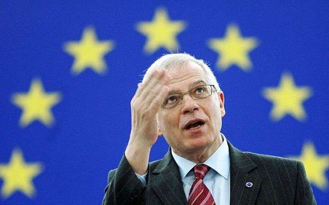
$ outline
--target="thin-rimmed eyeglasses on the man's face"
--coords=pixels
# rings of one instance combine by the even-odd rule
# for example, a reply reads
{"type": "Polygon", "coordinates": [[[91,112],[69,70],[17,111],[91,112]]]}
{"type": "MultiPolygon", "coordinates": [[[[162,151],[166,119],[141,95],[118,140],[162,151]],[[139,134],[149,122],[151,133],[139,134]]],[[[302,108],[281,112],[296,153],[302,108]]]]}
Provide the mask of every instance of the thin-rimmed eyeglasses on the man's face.
{"type": "Polygon", "coordinates": [[[214,85],[202,85],[202,86],[197,86],[193,88],[190,91],[187,91],[185,93],[173,93],[170,94],[166,97],[165,101],[161,105],[162,108],[173,108],[175,106],[178,106],[182,104],[183,97],[185,94],[188,94],[193,98],[193,99],[202,99],[210,96],[213,91],[217,92],[216,88],[214,85]]]}

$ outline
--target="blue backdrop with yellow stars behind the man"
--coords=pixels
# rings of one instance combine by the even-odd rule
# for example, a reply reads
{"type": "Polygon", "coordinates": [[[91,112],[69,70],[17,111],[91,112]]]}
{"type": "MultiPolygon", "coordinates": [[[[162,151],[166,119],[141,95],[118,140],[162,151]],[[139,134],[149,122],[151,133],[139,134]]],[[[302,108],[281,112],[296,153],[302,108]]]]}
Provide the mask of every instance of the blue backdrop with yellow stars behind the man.
{"type": "Polygon", "coordinates": [[[236,148],[301,160],[329,203],[327,1],[0,5],[0,204],[100,204],[137,83],[170,52],[214,70],[236,148]]]}

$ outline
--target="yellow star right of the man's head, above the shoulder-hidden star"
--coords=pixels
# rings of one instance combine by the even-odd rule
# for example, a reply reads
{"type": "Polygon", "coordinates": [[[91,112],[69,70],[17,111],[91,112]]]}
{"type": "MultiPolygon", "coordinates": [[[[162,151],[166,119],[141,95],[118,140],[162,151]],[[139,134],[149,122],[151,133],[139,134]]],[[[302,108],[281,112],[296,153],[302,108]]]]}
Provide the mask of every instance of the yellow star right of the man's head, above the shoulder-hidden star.
{"type": "Polygon", "coordinates": [[[290,114],[297,120],[304,120],[306,113],[303,108],[303,101],[312,95],[312,90],[306,86],[296,87],[293,76],[282,74],[278,88],[265,88],[263,96],[272,101],[273,108],[270,116],[278,121],[285,115],[290,114]]]}

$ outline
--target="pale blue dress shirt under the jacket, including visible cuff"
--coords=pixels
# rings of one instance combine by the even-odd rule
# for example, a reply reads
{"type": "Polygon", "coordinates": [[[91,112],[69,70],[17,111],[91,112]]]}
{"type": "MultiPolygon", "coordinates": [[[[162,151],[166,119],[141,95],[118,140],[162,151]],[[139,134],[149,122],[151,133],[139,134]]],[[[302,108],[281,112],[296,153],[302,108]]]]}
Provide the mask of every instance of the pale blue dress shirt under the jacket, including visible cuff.
{"type": "MultiPolygon", "coordinates": [[[[228,151],[227,140],[221,133],[223,138],[222,145],[204,162],[211,169],[204,178],[204,183],[212,194],[215,204],[229,205],[230,204],[230,156],[228,151]]],[[[186,199],[188,200],[190,189],[194,181],[193,168],[195,162],[178,156],[171,151],[174,160],[176,161],[184,188],[186,199]]],[[[146,176],[135,173],[139,180],[146,185],[146,176]]]]}

